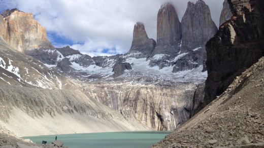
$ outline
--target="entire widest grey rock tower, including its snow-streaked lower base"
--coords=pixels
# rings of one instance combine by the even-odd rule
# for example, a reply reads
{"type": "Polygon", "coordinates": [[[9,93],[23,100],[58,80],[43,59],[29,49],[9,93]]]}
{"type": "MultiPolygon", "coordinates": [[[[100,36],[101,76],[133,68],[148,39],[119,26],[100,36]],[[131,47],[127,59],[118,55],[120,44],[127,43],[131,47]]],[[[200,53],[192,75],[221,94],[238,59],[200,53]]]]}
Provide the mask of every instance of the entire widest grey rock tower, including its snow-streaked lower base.
{"type": "Polygon", "coordinates": [[[205,45],[216,33],[217,27],[204,1],[188,2],[182,17],[181,53],[187,53],[175,62],[173,72],[189,70],[203,65],[206,60],[205,45]]]}

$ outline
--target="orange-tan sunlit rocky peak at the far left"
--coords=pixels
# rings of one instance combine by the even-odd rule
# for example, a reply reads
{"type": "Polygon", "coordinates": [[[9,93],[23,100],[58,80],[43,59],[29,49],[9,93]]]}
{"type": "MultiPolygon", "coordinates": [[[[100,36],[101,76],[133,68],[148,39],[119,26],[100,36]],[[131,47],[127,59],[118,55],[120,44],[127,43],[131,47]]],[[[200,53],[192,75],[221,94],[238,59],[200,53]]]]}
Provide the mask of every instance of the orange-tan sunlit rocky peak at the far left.
{"type": "Polygon", "coordinates": [[[53,48],[47,39],[46,29],[34,20],[31,13],[12,9],[6,10],[3,17],[7,31],[2,31],[2,36],[14,49],[24,52],[36,48],[53,48]]]}

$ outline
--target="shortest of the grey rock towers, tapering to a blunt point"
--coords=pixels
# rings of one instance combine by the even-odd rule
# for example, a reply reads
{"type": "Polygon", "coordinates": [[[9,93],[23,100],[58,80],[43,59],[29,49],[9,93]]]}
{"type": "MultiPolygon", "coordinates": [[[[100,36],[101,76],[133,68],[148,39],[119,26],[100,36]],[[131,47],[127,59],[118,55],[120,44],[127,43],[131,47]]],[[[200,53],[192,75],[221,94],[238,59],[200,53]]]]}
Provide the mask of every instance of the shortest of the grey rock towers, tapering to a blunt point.
{"type": "Polygon", "coordinates": [[[148,58],[155,46],[156,42],[148,38],[144,24],[137,22],[134,26],[132,45],[127,54],[135,58],[148,58]]]}

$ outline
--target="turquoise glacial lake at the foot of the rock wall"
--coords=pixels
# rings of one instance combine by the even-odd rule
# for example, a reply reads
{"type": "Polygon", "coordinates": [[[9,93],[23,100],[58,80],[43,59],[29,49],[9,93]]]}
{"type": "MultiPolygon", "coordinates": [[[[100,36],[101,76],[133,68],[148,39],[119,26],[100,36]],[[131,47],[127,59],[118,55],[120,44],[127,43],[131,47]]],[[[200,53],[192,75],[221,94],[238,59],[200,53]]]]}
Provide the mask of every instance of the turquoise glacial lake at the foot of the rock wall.
{"type": "Polygon", "coordinates": [[[172,131],[133,131],[133,132],[106,132],[106,133],[85,133],[85,134],[64,134],[23,137],[35,143],[42,143],[46,140],[51,143],[55,140],[63,141],[63,146],[72,147],[151,147],[163,139],[172,131]]]}

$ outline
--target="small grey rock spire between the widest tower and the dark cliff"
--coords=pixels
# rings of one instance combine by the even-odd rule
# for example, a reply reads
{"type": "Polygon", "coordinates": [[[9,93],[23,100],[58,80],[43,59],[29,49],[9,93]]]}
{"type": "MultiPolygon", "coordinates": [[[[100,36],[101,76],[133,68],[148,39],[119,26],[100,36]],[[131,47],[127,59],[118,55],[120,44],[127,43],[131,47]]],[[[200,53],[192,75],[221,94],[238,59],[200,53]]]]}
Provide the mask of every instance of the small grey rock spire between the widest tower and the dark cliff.
{"type": "Polygon", "coordinates": [[[227,0],[224,0],[223,3],[223,9],[221,11],[220,20],[219,20],[219,26],[221,26],[224,22],[229,20],[233,16],[229,4],[227,0]]]}

